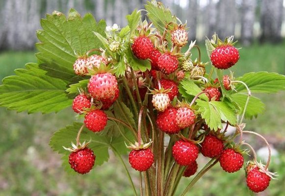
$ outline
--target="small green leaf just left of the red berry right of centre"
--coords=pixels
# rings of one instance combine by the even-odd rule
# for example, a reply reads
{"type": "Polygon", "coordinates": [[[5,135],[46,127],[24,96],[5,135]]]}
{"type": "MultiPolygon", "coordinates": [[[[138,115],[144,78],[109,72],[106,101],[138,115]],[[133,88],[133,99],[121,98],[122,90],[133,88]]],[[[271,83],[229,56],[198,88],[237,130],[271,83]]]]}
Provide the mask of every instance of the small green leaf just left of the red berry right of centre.
{"type": "MultiPolygon", "coordinates": [[[[202,92],[202,90],[197,86],[193,80],[191,79],[183,79],[179,86],[179,92],[184,98],[188,98],[190,96],[196,96],[202,92]]],[[[200,95],[200,98],[204,100],[209,100],[205,94],[200,95]]]]}

